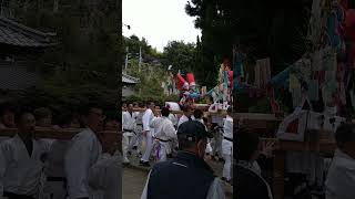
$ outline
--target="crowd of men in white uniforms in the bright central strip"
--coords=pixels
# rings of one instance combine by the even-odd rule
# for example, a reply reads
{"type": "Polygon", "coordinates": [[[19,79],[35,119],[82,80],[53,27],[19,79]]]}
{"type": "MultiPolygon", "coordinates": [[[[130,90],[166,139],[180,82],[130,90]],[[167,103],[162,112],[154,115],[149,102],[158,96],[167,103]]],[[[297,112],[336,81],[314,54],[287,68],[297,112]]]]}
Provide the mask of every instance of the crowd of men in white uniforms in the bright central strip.
{"type": "MultiPolygon", "coordinates": [[[[191,144],[196,144],[201,137],[190,137],[183,139],[180,136],[186,132],[194,132],[199,126],[192,125],[183,129],[184,124],[191,122],[197,123],[203,127],[203,132],[211,134],[206,136],[203,154],[197,151],[199,158],[202,160],[213,159],[223,161],[223,177],[222,180],[232,185],[232,159],[233,159],[233,117],[232,107],[227,108],[227,114],[207,115],[199,108],[193,108],[190,105],[182,106],[182,114],[172,113],[170,107],[155,106],[153,102],[148,102],[144,105],[138,103],[123,104],[122,106],[122,154],[123,164],[130,164],[130,156],[133,156],[133,150],[136,150],[136,156],[140,157],[140,165],[144,167],[151,166],[153,160],[155,167],[162,164],[171,163],[176,158],[186,158],[186,155],[181,155],[186,148],[191,149],[191,144]],[[140,111],[138,111],[140,108],[140,111]],[[185,146],[187,143],[187,146],[185,146]],[[182,156],[182,157],[181,157],[182,156]]],[[[199,146],[197,148],[201,148],[199,146]]],[[[191,153],[191,150],[190,150],[191,153]]],[[[153,172],[153,171],[151,171],[153,172]]],[[[149,179],[151,181],[152,179],[149,179]]],[[[168,179],[165,179],[168,180],[168,179]]],[[[166,181],[168,182],[168,181],[166,181]]],[[[164,184],[164,179],[161,179],[164,184]]],[[[148,191],[148,189],[144,189],[148,191]]],[[[223,192],[223,191],[222,191],[223,192]]],[[[224,193],[223,193],[224,195],[224,193]]],[[[143,193],[142,198],[151,195],[143,193]],[[143,197],[144,196],[144,197],[143,197]]],[[[163,195],[162,195],[163,196],[163,195]]],[[[168,195],[166,195],[168,196],[168,195]]],[[[169,195],[172,197],[172,195],[169,195]]],[[[179,196],[179,195],[176,195],[179,196]]],[[[156,197],[156,196],[155,196],[156,197]]],[[[148,198],[155,198],[148,197],[148,198]]]]}

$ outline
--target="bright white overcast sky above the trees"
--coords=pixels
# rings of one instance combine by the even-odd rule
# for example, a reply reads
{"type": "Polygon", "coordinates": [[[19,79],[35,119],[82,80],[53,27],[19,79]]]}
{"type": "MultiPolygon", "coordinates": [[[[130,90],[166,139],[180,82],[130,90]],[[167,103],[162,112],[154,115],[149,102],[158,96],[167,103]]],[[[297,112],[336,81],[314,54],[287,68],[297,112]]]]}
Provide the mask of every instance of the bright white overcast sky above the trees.
{"type": "Polygon", "coordinates": [[[162,52],[169,41],[196,42],[201,31],[194,28],[194,18],[185,12],[187,0],[122,0],[122,27],[125,36],[145,38],[162,52]]]}

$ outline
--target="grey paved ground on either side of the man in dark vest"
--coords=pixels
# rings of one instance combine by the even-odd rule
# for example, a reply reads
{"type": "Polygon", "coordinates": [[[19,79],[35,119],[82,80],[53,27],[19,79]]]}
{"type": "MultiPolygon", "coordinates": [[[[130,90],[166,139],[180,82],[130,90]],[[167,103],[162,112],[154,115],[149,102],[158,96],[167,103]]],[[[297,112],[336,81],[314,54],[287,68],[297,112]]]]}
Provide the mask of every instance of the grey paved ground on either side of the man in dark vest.
{"type": "MultiPolygon", "coordinates": [[[[139,166],[139,158],[134,155],[130,157],[131,165],[123,167],[123,199],[139,199],[145,185],[150,168],[139,166]]],[[[215,170],[215,175],[222,176],[223,163],[207,160],[209,165],[215,170]]],[[[153,165],[153,161],[151,161],[153,165]]],[[[233,198],[233,188],[223,182],[226,198],[233,198]]]]}

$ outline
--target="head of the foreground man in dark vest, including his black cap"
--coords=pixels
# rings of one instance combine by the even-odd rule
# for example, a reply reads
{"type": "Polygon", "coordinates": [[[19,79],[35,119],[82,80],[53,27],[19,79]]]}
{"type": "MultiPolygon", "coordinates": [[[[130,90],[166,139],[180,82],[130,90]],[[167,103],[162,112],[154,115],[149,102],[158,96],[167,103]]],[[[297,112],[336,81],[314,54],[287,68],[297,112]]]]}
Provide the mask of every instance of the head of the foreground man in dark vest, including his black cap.
{"type": "Polygon", "coordinates": [[[207,138],[212,137],[197,121],[185,122],[178,128],[179,149],[193,153],[201,158],[204,157],[207,138]]]}

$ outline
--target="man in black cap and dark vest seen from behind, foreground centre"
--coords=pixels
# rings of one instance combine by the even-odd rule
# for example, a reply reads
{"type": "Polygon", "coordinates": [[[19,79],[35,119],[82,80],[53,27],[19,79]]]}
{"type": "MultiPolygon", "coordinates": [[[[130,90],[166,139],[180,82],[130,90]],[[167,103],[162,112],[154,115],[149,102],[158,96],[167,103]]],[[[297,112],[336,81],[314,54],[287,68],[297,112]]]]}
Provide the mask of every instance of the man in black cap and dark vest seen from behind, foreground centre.
{"type": "Polygon", "coordinates": [[[141,199],[224,199],[221,181],[203,159],[212,137],[200,122],[181,124],[178,156],[152,168],[141,199]]]}

